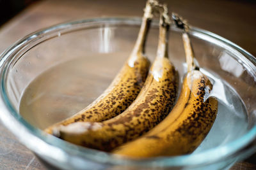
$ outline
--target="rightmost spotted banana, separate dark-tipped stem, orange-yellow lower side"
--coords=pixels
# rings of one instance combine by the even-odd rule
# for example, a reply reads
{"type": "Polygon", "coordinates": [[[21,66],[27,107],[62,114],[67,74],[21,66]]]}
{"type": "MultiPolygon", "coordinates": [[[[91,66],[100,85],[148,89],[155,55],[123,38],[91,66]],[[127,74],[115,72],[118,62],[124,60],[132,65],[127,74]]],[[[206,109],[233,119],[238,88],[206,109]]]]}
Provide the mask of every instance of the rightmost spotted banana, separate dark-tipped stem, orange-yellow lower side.
{"type": "MultiPolygon", "coordinates": [[[[182,26],[184,22],[177,22],[182,26]]],[[[182,20],[181,20],[182,21],[182,20]]],[[[218,101],[209,96],[211,81],[193,64],[193,50],[188,34],[183,33],[188,73],[182,83],[179,99],[170,114],[147,134],[113,150],[126,157],[157,157],[191,153],[210,131],[218,111],[218,101]]]]}

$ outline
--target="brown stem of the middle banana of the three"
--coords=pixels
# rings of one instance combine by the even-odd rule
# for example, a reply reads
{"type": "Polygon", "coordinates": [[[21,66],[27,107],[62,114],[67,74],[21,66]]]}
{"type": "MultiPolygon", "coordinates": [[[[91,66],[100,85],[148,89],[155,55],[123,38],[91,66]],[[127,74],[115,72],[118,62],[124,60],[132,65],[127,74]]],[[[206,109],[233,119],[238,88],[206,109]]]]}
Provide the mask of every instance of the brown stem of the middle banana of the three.
{"type": "Polygon", "coordinates": [[[157,47],[157,57],[168,58],[168,38],[170,29],[170,18],[166,5],[161,6],[162,10],[159,22],[159,41],[157,47]]]}

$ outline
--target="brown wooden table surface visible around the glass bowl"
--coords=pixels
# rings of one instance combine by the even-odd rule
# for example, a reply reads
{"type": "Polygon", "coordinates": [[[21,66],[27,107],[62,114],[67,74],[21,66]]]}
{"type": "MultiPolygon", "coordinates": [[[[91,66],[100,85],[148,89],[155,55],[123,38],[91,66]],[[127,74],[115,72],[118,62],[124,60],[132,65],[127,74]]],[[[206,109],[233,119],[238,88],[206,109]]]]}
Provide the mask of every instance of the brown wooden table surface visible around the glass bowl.
{"type": "MultiPolygon", "coordinates": [[[[253,1],[168,1],[172,11],[192,25],[233,41],[256,56],[256,3],[253,1]]],[[[82,18],[141,16],[145,1],[38,1],[0,27],[0,52],[17,39],[50,25],[82,18]]],[[[25,146],[0,124],[0,169],[45,169],[25,146]]],[[[256,157],[231,169],[256,169],[256,157]],[[253,162],[255,164],[253,164],[253,162]]]]}

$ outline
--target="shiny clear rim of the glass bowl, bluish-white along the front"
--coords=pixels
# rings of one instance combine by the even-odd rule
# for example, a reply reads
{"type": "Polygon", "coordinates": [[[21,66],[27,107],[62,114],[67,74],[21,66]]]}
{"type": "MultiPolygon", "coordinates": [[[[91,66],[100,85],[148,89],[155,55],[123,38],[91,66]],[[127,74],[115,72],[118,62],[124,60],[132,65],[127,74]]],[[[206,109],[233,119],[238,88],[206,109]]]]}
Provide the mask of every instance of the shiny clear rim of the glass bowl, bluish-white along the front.
{"type": "MultiPolygon", "coordinates": [[[[55,138],[49,134],[45,134],[45,132],[33,127],[28,124],[26,120],[24,120],[15,108],[13,108],[5,90],[5,71],[6,66],[8,66],[8,59],[13,52],[19,50],[22,46],[29,44],[31,39],[36,39],[40,35],[44,35],[48,32],[54,32],[56,30],[65,30],[70,27],[79,26],[80,24],[99,24],[99,23],[109,23],[113,22],[119,23],[122,22],[124,24],[137,24],[140,25],[141,18],[138,17],[111,17],[111,18],[92,18],[85,20],[76,20],[72,22],[65,22],[63,24],[54,25],[51,27],[47,27],[46,29],[42,29],[40,31],[33,32],[28,36],[20,39],[12,46],[10,46],[7,50],[1,53],[0,59],[0,68],[1,68],[1,99],[0,99],[0,119],[3,124],[12,131],[13,134],[19,139],[21,143],[26,145],[30,150],[37,153],[38,155],[45,155],[47,157],[56,157],[58,154],[58,159],[61,161],[65,161],[70,159],[70,157],[75,157],[75,155],[79,155],[83,158],[92,160],[94,162],[102,163],[102,164],[113,164],[113,165],[134,165],[134,166],[191,166],[198,164],[205,164],[205,162],[216,162],[218,160],[224,159],[226,157],[230,157],[233,154],[243,150],[245,146],[250,144],[256,136],[256,125],[250,129],[246,134],[241,136],[240,138],[235,139],[225,145],[216,146],[215,148],[211,148],[209,150],[205,150],[200,153],[194,153],[193,155],[180,155],[175,157],[154,157],[148,159],[127,159],[125,157],[117,156],[111,153],[100,152],[98,150],[93,150],[90,148],[83,148],[81,146],[76,146],[71,143],[67,143],[66,141],[62,141],[61,139],[55,138]],[[29,140],[28,140],[29,139],[29,140]],[[40,147],[38,147],[40,146],[40,147]],[[55,152],[55,153],[54,153],[55,152]],[[68,153],[68,154],[67,154],[68,153]],[[71,155],[70,155],[71,154],[71,155]],[[211,155],[209,157],[209,155],[211,155]]],[[[158,25],[158,22],[153,22],[153,25],[158,25]]],[[[242,53],[244,57],[247,58],[246,62],[251,62],[251,64],[256,66],[256,59],[252,54],[246,52],[240,46],[228,41],[221,36],[218,36],[212,32],[205,31],[203,29],[198,29],[196,27],[191,27],[191,34],[204,34],[209,38],[213,38],[224,43],[230,48],[237,50],[242,53]]],[[[256,77],[256,69],[254,69],[254,76],[256,77]]]]}

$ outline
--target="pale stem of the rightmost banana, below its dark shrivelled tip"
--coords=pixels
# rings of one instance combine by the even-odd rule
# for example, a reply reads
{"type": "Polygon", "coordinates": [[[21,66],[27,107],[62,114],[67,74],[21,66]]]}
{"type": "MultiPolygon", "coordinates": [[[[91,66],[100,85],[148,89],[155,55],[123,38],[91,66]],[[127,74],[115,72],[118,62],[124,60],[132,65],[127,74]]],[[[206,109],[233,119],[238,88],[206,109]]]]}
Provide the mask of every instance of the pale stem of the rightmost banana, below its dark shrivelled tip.
{"type": "Polygon", "coordinates": [[[194,52],[187,32],[183,32],[182,39],[184,43],[184,49],[186,53],[186,62],[188,66],[188,72],[195,69],[194,52]]]}

